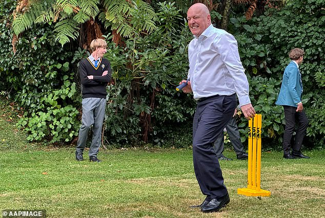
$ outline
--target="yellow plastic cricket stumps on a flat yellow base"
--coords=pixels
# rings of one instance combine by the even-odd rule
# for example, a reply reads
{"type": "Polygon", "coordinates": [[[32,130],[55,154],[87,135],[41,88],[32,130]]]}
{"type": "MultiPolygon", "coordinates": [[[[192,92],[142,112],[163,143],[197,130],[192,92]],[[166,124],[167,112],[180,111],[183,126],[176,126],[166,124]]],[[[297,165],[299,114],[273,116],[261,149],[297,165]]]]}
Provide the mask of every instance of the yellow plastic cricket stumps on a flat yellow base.
{"type": "Polygon", "coordinates": [[[270,191],[261,189],[261,128],[262,115],[248,121],[248,179],[247,188],[238,188],[237,193],[246,196],[267,197],[270,191]]]}

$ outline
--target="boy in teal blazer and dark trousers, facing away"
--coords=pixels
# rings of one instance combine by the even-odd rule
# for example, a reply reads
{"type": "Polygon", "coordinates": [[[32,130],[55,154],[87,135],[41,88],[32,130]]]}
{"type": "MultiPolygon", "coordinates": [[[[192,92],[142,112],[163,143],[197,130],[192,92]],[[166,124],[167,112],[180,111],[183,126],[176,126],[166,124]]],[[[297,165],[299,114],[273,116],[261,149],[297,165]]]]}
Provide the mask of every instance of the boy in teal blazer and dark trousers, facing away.
{"type": "Polygon", "coordinates": [[[283,134],[283,158],[310,158],[303,155],[300,151],[301,143],[308,126],[308,118],[303,111],[301,102],[302,81],[299,71],[299,65],[303,61],[303,50],[299,48],[292,49],[289,52],[289,57],[292,60],[283,73],[282,85],[278,99],[275,104],[282,105],[285,109],[286,128],[283,134]],[[291,146],[291,138],[295,129],[295,124],[298,128],[295,135],[294,145],[291,146]],[[292,151],[290,153],[292,147],[292,151]]]}

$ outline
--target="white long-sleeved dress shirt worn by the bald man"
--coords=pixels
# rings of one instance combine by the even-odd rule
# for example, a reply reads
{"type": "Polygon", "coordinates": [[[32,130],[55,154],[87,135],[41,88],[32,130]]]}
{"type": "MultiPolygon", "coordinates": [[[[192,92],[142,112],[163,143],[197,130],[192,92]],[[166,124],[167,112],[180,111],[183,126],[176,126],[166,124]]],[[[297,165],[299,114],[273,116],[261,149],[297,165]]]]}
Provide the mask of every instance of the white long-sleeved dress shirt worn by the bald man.
{"type": "Polygon", "coordinates": [[[188,52],[188,78],[195,100],[237,93],[240,106],[251,103],[248,80],[233,35],[211,24],[199,37],[192,39],[188,52]]]}

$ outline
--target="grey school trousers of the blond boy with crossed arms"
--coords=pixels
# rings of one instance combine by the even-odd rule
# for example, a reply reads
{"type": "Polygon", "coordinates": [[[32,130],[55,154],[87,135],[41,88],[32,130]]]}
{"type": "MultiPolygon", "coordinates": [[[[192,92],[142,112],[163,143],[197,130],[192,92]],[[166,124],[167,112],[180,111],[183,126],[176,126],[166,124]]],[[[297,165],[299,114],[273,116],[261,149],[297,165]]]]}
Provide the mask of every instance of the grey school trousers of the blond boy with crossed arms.
{"type": "Polygon", "coordinates": [[[93,136],[89,148],[89,156],[97,156],[101,142],[101,127],[103,126],[105,116],[106,99],[87,97],[83,98],[82,104],[82,126],[79,129],[76,152],[83,153],[86,147],[88,131],[92,125],[93,136]]]}

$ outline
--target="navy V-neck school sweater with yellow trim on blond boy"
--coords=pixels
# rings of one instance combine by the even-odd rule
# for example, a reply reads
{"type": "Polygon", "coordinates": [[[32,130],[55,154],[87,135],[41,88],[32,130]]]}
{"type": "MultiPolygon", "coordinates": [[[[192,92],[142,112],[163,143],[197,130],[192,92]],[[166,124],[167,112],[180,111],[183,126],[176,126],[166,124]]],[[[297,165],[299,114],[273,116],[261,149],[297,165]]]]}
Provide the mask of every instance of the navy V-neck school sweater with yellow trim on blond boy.
{"type": "Polygon", "coordinates": [[[87,58],[79,62],[79,75],[82,83],[83,98],[98,97],[106,98],[106,86],[111,81],[111,64],[105,58],[100,58],[97,67],[93,65],[87,58]],[[103,72],[107,70],[108,73],[102,76],[103,72]],[[90,80],[87,76],[93,75],[94,79],[90,80]]]}

